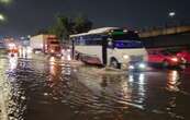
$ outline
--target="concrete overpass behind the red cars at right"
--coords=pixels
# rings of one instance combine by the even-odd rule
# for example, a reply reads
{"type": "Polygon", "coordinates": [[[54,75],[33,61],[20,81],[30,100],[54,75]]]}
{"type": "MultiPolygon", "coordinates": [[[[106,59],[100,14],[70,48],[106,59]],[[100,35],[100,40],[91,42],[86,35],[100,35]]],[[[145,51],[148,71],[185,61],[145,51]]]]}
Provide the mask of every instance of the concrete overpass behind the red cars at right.
{"type": "Polygon", "coordinates": [[[147,48],[190,46],[190,26],[142,31],[139,36],[147,48]]]}

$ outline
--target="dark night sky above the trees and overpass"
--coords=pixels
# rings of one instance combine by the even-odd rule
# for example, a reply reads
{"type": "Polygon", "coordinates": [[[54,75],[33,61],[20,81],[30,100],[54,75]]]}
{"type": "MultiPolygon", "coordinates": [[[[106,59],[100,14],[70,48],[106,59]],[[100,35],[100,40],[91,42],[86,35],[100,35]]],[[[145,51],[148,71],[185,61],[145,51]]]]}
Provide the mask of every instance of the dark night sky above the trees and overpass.
{"type": "Polygon", "coordinates": [[[46,28],[55,21],[55,14],[87,15],[93,27],[159,26],[169,21],[168,13],[176,12],[175,19],[190,19],[190,0],[12,0],[0,5],[0,12],[8,21],[0,26],[1,36],[22,36],[46,28]]]}

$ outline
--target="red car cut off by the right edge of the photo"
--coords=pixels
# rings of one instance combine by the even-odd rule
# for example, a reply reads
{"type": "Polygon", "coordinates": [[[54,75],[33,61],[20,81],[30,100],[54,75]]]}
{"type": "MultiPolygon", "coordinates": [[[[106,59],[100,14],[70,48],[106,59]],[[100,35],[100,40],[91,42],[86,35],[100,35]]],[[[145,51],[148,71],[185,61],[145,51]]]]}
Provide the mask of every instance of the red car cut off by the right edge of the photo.
{"type": "Polygon", "coordinates": [[[177,52],[177,57],[183,59],[187,64],[190,64],[190,50],[189,49],[183,49],[183,50],[177,52]]]}

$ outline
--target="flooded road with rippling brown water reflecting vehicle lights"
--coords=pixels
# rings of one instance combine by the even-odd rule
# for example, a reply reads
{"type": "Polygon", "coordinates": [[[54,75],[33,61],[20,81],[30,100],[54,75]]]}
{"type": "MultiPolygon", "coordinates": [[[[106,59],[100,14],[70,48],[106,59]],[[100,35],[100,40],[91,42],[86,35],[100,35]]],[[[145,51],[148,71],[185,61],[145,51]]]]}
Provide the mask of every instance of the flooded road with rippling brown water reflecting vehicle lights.
{"type": "Polygon", "coordinates": [[[189,120],[190,70],[97,74],[55,58],[0,57],[0,120],[189,120]]]}

